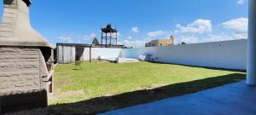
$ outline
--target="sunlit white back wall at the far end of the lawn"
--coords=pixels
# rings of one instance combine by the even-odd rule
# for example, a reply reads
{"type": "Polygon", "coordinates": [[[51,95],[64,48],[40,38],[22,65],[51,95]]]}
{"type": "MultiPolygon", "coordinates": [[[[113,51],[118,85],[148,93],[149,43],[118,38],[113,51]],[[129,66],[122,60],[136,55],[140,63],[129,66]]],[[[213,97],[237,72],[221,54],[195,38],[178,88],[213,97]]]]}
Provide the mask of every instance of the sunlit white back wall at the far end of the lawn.
{"type": "MultiPolygon", "coordinates": [[[[91,59],[101,58],[117,58],[119,57],[122,49],[111,49],[111,48],[92,48],[91,49],[91,59]]],[[[84,48],[84,54],[82,55],[82,60],[90,60],[90,48],[84,48]]]]}

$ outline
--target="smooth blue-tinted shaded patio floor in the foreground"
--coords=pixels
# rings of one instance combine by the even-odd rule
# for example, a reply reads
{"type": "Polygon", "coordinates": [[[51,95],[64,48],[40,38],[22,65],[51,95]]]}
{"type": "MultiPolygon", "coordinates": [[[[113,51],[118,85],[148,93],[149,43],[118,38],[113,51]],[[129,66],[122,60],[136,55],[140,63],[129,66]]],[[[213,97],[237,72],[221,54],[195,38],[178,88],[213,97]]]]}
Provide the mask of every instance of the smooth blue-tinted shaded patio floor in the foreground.
{"type": "Polygon", "coordinates": [[[232,83],[102,115],[256,115],[256,87],[232,83]]]}

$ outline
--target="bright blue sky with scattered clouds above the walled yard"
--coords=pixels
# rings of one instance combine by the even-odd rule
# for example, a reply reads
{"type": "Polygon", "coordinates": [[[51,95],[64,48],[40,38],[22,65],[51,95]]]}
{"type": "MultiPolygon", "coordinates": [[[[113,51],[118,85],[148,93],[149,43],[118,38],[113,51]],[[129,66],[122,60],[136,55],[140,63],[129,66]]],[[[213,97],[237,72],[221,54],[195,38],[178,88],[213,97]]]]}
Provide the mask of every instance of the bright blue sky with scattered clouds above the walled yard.
{"type": "Polygon", "coordinates": [[[143,47],[172,34],[175,43],[202,43],[247,38],[247,4],[247,0],[32,0],[31,23],[51,43],[91,43],[108,23],[117,26],[119,43],[127,46],[143,47]]]}

